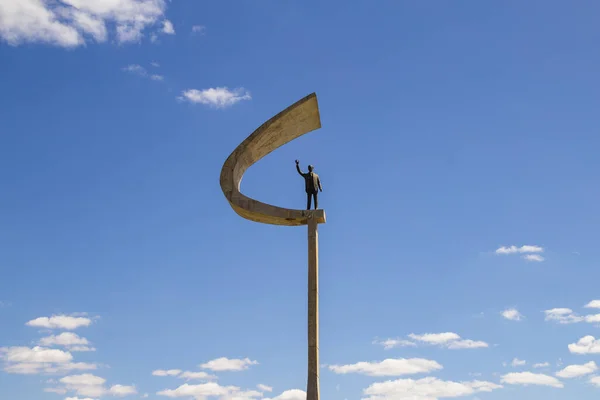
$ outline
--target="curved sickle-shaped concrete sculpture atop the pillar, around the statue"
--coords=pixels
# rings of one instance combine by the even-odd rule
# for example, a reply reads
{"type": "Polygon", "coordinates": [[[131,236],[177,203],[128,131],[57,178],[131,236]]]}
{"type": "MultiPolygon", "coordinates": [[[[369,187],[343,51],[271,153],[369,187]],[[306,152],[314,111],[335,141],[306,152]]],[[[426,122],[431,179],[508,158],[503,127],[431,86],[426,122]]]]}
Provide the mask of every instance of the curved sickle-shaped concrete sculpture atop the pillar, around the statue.
{"type": "Polygon", "coordinates": [[[309,94],[262,124],[225,161],[221,169],[221,189],[240,216],[273,225],[306,225],[309,219],[325,222],[323,210],[293,210],[261,203],[240,193],[246,170],[284,144],[321,127],[317,95],[309,94]]]}

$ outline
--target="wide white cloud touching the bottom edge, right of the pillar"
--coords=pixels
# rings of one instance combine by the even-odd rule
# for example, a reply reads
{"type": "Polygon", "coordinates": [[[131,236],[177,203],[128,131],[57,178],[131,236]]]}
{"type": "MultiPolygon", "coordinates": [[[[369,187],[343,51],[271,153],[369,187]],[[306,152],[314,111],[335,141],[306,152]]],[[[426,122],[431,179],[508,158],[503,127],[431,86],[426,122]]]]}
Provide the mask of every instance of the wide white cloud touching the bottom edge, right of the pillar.
{"type": "Polygon", "coordinates": [[[363,392],[364,400],[437,400],[447,397],[462,397],[478,392],[491,392],[502,386],[492,382],[443,381],[433,377],[419,380],[398,379],[371,384],[363,392]]]}

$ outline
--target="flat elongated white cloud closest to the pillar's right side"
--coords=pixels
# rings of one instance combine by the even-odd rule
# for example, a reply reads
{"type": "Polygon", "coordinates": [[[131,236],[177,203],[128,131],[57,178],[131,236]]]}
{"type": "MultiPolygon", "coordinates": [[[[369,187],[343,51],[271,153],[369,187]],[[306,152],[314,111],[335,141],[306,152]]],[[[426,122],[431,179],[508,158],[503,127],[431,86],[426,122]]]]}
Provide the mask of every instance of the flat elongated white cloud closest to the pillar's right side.
{"type": "Polygon", "coordinates": [[[336,374],[363,374],[368,376],[401,376],[437,371],[443,367],[433,360],[423,358],[388,358],[380,362],[358,362],[348,365],[330,365],[336,374]]]}

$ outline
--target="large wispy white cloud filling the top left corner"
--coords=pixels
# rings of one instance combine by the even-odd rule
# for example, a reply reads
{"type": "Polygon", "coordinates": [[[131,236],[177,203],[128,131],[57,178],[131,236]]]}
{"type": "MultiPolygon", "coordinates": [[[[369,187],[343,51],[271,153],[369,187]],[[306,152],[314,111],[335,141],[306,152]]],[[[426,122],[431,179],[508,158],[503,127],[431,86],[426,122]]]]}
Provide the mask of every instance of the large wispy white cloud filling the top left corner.
{"type": "Polygon", "coordinates": [[[119,43],[139,41],[164,15],[164,0],[2,0],[0,38],[17,46],[45,43],[61,47],[105,42],[115,26],[119,43]]]}

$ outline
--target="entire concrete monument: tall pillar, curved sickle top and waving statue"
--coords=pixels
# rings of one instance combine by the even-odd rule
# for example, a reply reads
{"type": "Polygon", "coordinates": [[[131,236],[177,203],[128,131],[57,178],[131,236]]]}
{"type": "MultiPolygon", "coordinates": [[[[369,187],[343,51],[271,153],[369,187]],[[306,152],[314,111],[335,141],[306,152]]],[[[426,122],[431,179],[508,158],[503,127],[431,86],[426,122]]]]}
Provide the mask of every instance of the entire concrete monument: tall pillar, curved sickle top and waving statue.
{"type": "MultiPolygon", "coordinates": [[[[317,95],[312,93],[262,124],[227,158],[221,169],[221,189],[233,210],[243,218],[263,224],[308,226],[308,379],[307,400],[319,400],[319,233],[325,211],[281,208],[251,199],[240,192],[246,170],[284,144],[321,127],[317,95]]],[[[297,164],[298,165],[298,164],[297,164]]],[[[298,167],[298,172],[301,173],[298,167]]],[[[312,171],[310,171],[312,172],[312,171]]],[[[316,175],[316,174],[315,174],[316,175]]],[[[306,178],[305,178],[306,179],[306,178]]],[[[307,196],[321,188],[307,188],[307,196]]],[[[308,185],[308,184],[307,184],[308,185]]]]}

